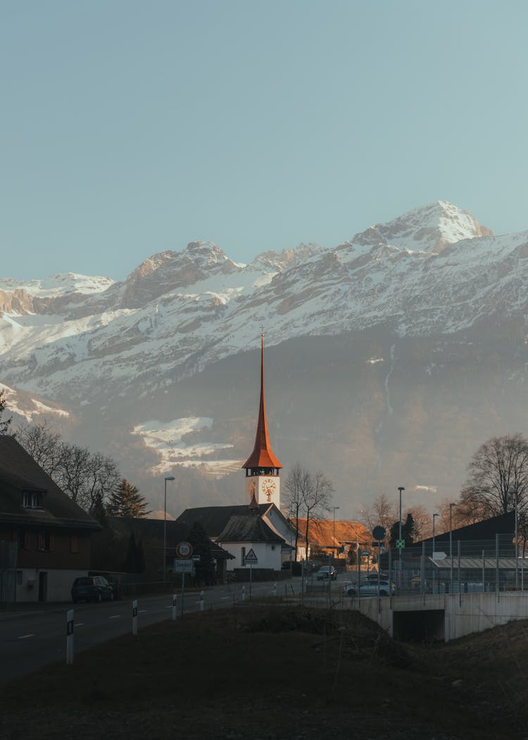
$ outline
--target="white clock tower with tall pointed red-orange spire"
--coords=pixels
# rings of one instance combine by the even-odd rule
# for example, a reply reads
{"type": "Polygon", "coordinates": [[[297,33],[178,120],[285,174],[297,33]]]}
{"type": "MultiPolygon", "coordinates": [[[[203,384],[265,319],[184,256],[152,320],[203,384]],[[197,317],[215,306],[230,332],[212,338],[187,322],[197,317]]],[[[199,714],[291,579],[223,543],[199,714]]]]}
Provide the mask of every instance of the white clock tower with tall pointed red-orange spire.
{"type": "Polygon", "coordinates": [[[260,406],[257,422],[257,437],[253,452],[243,464],[246,468],[246,500],[258,504],[274,503],[280,508],[279,470],[282,465],[271,451],[268,437],[268,422],[265,416],[264,400],[264,334],[260,334],[260,406]]]}

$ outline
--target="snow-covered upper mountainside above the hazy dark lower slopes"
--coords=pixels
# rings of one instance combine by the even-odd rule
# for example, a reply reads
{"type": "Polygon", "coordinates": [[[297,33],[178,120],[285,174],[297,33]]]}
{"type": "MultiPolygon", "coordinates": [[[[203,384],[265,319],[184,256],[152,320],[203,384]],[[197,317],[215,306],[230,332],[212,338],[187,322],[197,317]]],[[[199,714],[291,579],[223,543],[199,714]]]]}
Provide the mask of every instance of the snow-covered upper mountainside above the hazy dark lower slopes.
{"type": "Polygon", "coordinates": [[[5,314],[1,377],[89,403],[166,388],[254,349],[262,326],[273,344],[378,325],[450,333],[497,310],[528,314],[528,233],[494,237],[444,201],[373,229],[336,249],[300,245],[247,266],[196,242],[145,260],[62,317],[5,314]]]}

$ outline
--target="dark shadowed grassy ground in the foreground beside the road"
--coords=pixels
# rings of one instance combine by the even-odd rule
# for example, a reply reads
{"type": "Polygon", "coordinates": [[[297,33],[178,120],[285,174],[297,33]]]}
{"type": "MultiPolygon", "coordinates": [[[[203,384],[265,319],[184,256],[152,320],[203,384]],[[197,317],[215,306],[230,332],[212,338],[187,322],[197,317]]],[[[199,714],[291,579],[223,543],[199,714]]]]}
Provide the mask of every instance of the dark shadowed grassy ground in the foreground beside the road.
{"type": "Polygon", "coordinates": [[[528,622],[402,645],[353,612],[250,605],[123,636],[4,687],[0,737],[528,738],[528,622]]]}

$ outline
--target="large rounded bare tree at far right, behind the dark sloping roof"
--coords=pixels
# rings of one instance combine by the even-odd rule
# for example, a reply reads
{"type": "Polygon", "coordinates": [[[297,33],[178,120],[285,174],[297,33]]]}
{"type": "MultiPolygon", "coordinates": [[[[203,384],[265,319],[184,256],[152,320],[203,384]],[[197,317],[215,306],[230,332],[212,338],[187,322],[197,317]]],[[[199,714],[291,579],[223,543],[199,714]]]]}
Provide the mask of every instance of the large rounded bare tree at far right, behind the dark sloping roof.
{"type": "Polygon", "coordinates": [[[464,524],[512,511],[517,495],[518,516],[527,514],[528,441],[522,434],[493,437],[481,445],[468,466],[457,515],[464,524]]]}

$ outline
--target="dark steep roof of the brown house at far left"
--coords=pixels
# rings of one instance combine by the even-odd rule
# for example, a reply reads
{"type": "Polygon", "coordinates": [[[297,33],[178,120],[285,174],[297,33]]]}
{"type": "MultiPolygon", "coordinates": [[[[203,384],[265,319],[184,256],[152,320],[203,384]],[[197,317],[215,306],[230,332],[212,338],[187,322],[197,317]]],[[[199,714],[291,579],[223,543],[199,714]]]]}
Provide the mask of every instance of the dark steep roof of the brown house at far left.
{"type": "Polygon", "coordinates": [[[101,528],[7,434],[0,435],[0,521],[22,527],[101,528]],[[42,508],[24,507],[24,493],[42,494],[42,508]]]}

